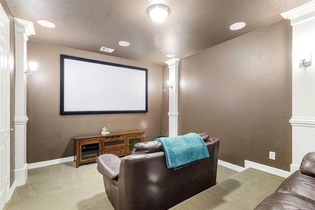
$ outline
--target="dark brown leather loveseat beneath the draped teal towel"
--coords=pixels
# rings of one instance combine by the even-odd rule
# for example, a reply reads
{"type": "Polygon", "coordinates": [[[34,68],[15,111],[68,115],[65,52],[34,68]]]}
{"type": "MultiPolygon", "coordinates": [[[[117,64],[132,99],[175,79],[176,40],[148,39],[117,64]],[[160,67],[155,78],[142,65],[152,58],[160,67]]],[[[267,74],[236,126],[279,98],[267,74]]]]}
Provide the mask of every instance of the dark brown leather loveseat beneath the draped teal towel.
{"type": "Polygon", "coordinates": [[[210,157],[179,169],[166,166],[158,141],[138,143],[130,155],[97,157],[107,197],[115,210],[166,210],[213,186],[217,180],[219,139],[199,134],[210,157]]]}

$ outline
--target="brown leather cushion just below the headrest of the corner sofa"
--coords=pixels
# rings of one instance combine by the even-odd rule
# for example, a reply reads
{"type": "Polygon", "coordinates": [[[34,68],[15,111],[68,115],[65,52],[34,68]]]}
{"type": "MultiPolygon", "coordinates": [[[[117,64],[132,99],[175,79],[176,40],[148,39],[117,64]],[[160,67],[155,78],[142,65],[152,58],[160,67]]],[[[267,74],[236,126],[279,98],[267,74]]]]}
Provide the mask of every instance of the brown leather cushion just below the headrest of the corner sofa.
{"type": "Polygon", "coordinates": [[[276,192],[293,195],[315,205],[315,177],[296,171],[286,178],[276,192]]]}

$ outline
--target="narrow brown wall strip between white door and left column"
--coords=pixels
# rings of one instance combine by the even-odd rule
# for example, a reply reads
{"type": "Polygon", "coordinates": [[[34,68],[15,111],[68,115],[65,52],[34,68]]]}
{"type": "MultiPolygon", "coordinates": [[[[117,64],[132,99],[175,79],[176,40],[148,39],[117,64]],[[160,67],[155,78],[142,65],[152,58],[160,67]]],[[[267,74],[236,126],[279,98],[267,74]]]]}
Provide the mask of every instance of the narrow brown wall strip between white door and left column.
{"type": "MultiPolygon", "coordinates": [[[[11,10],[5,0],[0,0],[0,4],[4,9],[4,12],[10,20],[10,128],[15,128],[14,116],[15,116],[15,68],[14,68],[14,21],[11,10]]],[[[10,133],[10,187],[15,180],[15,133],[10,133]]]]}

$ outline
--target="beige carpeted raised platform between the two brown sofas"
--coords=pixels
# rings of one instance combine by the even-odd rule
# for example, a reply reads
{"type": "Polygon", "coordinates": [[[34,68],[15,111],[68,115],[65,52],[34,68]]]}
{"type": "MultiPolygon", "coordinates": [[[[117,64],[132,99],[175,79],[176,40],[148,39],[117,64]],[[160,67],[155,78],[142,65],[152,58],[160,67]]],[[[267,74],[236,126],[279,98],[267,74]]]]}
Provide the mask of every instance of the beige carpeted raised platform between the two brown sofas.
{"type": "Polygon", "coordinates": [[[284,180],[248,168],[189,198],[171,210],[253,210],[284,180]]]}

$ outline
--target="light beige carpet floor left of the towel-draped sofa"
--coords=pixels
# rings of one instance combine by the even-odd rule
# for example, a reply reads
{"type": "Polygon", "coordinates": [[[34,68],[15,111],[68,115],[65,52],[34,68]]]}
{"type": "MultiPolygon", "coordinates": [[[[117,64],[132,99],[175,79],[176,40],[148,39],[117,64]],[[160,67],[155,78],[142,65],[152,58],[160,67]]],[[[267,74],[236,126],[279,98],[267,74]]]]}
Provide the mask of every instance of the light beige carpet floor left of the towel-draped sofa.
{"type": "Polygon", "coordinates": [[[114,210],[105,194],[96,163],[75,162],[28,170],[3,210],[114,210]]]}

